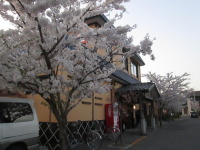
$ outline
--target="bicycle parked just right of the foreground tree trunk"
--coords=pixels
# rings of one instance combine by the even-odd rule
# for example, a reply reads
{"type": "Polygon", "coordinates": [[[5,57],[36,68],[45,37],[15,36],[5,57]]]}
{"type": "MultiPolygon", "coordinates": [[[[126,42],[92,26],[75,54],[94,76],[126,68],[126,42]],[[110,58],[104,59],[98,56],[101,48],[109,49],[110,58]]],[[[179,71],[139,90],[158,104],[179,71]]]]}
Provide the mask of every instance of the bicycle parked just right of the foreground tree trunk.
{"type": "Polygon", "coordinates": [[[79,144],[86,142],[90,149],[98,150],[101,147],[101,135],[88,127],[85,136],[81,136],[79,134],[79,125],[79,121],[71,124],[73,131],[69,132],[67,137],[70,148],[73,149],[79,144]]]}

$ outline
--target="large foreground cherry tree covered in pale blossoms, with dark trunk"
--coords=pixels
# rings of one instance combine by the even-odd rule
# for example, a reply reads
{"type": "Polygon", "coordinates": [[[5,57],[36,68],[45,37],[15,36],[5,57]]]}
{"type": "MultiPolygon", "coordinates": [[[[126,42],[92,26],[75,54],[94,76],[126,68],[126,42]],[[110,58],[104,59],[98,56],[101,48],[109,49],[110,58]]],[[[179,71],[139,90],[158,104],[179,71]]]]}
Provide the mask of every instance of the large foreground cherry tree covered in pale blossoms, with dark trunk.
{"type": "Polygon", "coordinates": [[[62,150],[67,149],[68,113],[93,92],[109,90],[109,76],[121,67],[117,62],[134,53],[154,58],[149,36],[134,46],[127,37],[134,26],[114,27],[127,1],[0,1],[1,17],[15,27],[0,31],[0,89],[39,94],[59,123],[62,150]],[[112,10],[115,17],[101,28],[84,22],[112,10]]]}

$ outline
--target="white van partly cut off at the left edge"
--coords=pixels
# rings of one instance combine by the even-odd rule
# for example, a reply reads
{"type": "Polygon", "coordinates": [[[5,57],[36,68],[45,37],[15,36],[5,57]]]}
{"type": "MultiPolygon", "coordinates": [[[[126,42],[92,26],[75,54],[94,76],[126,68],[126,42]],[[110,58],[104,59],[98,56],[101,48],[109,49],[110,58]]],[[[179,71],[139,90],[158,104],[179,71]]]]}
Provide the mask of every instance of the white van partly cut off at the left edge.
{"type": "Polygon", "coordinates": [[[38,150],[38,137],[33,101],[0,97],[0,150],[38,150]]]}

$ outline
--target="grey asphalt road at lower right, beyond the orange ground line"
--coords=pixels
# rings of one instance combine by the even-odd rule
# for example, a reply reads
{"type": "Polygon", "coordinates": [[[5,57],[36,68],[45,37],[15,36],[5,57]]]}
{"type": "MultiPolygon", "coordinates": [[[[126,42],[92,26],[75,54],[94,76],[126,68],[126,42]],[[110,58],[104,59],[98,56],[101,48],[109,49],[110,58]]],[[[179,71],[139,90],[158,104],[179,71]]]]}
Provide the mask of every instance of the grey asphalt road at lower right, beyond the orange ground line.
{"type": "Polygon", "coordinates": [[[200,118],[181,118],[141,137],[128,150],[200,150],[200,118]]]}

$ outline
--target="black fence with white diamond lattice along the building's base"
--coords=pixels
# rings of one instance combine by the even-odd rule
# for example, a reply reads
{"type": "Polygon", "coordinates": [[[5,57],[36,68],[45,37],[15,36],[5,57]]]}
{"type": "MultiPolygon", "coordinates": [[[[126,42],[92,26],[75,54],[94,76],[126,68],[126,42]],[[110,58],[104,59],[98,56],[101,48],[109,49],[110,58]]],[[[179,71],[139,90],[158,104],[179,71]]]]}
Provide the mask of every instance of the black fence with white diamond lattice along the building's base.
{"type": "MultiPolygon", "coordinates": [[[[71,124],[67,124],[67,132],[72,132],[71,124]]],[[[81,137],[87,133],[87,129],[95,129],[96,125],[100,127],[100,134],[103,134],[105,130],[104,120],[98,121],[82,121],[78,126],[78,132],[81,137]]],[[[58,123],[40,122],[40,133],[39,133],[40,145],[48,147],[49,150],[60,150],[59,146],[59,125],[58,123]]]]}

